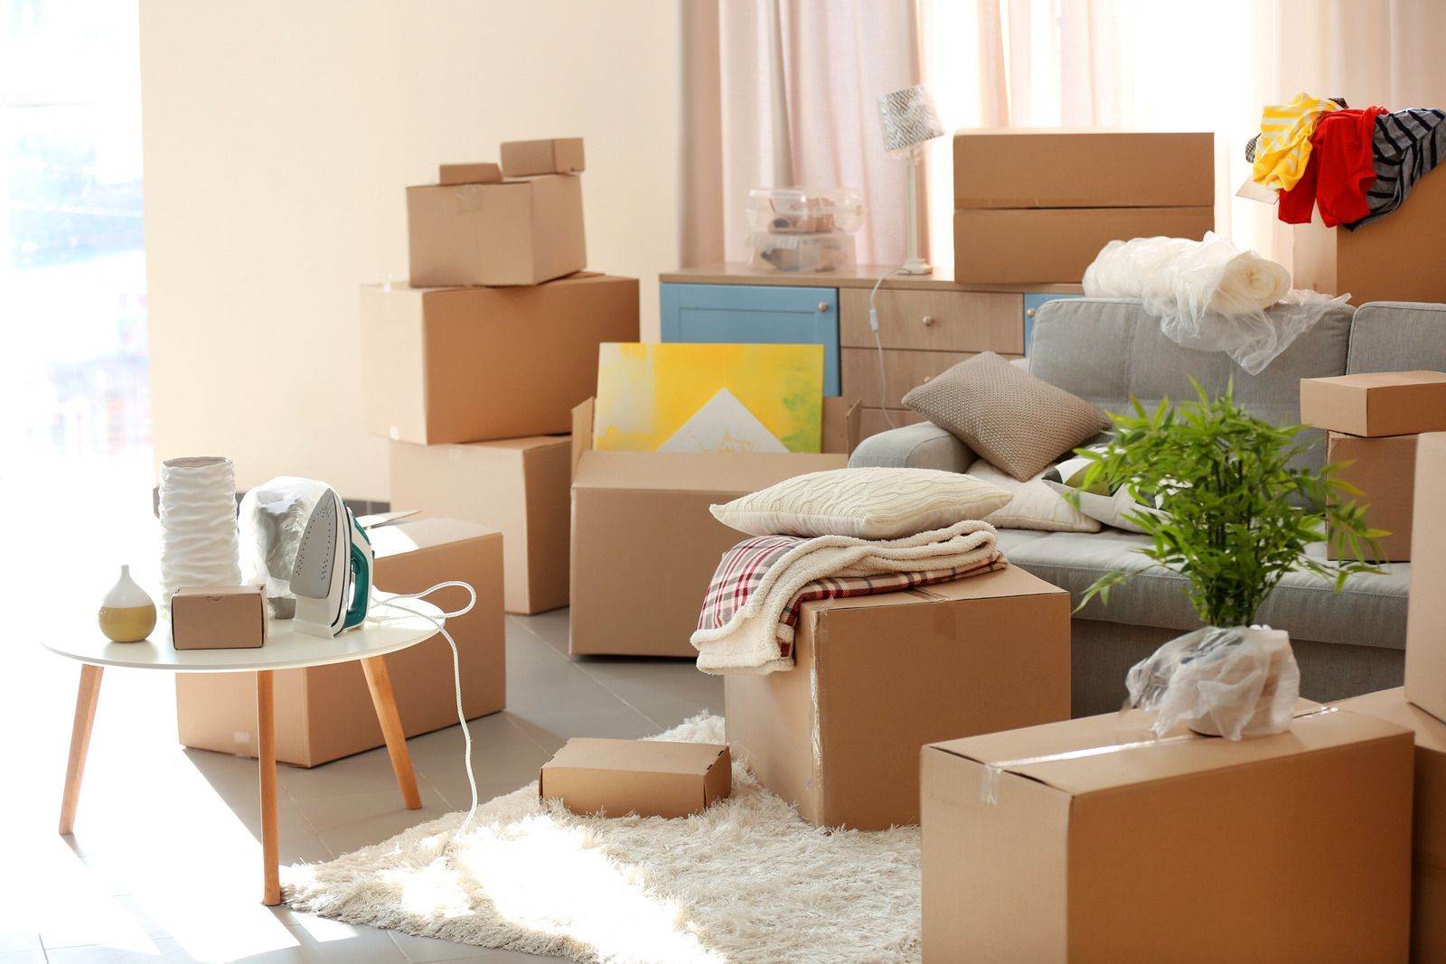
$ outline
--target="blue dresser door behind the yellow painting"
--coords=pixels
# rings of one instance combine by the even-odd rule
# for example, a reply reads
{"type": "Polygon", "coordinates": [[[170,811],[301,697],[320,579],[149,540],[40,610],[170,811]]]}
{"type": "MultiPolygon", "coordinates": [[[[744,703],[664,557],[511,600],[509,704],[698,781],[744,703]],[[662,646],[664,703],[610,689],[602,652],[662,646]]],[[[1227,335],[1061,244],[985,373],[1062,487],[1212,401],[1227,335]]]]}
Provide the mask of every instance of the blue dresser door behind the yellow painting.
{"type": "Polygon", "coordinates": [[[839,395],[839,289],[664,285],[662,340],[823,345],[823,393],[839,395]]]}

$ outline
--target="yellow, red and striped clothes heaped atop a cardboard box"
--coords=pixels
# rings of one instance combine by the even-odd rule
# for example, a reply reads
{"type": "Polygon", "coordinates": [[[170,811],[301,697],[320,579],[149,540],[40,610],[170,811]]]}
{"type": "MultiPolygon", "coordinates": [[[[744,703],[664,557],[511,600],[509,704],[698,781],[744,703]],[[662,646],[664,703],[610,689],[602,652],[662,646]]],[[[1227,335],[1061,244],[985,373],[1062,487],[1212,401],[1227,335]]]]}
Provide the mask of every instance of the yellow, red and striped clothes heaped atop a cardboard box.
{"type": "Polygon", "coordinates": [[[1280,192],[1278,217],[1355,230],[1401,207],[1446,155],[1446,111],[1416,107],[1355,110],[1339,97],[1300,94],[1271,104],[1245,147],[1251,179],[1280,192]]]}

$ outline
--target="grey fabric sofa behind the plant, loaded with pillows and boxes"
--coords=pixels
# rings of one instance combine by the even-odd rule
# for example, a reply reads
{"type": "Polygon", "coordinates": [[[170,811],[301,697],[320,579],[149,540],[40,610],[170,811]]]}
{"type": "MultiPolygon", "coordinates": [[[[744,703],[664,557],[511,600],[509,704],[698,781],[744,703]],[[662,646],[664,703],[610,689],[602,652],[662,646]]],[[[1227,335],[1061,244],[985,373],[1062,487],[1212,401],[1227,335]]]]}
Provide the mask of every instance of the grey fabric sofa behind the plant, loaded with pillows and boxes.
{"type": "MultiPolygon", "coordinates": [[[[1061,299],[1040,308],[1034,341],[1021,367],[1093,405],[1124,410],[1131,396],[1145,405],[1163,396],[1194,397],[1190,376],[1207,392],[1235,377],[1236,400],[1272,422],[1300,421],[1300,380],[1349,371],[1446,370],[1446,305],[1375,302],[1332,311],[1259,376],[1249,376],[1220,353],[1183,348],[1160,332],[1138,302],[1061,299]]],[[[1320,432],[1310,431],[1314,438],[1320,432]]],[[[1323,461],[1325,442],[1312,458],[1323,461]]],[[[975,455],[957,438],[928,422],[873,435],[850,465],[908,465],[964,471],[975,455]]],[[[1148,572],[1092,600],[1073,621],[1074,714],[1118,710],[1125,672],[1174,636],[1199,626],[1183,580],[1132,552],[1145,536],[1001,530],[1001,548],[1014,565],[1067,588],[1079,601],[1084,588],[1116,567],[1148,572]]],[[[1312,552],[1322,554],[1323,545],[1312,552]]],[[[1410,564],[1384,575],[1352,577],[1339,595],[1304,572],[1288,575],[1259,619],[1291,634],[1301,692],[1338,700],[1398,687],[1406,646],[1410,564]]]]}

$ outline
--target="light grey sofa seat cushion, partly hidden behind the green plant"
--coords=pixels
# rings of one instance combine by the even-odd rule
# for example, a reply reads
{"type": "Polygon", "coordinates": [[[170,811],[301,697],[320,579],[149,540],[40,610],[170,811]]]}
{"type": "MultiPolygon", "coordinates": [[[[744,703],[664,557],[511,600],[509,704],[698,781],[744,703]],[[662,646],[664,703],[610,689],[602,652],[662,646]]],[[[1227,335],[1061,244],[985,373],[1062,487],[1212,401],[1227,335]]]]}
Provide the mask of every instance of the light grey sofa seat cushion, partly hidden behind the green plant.
{"type": "MultiPolygon", "coordinates": [[[[1184,578],[1134,552],[1148,543],[1147,536],[1111,529],[1096,533],[999,530],[999,549],[1012,565],[1069,590],[1076,603],[1111,569],[1144,571],[1111,590],[1108,606],[1090,600],[1077,619],[1181,633],[1196,629],[1200,620],[1184,594],[1184,578]]],[[[1325,543],[1312,546],[1310,555],[1323,559],[1325,543]]],[[[1411,565],[1397,562],[1382,568],[1385,575],[1352,575],[1339,597],[1326,581],[1309,572],[1291,572],[1271,593],[1258,619],[1299,639],[1404,649],[1411,565]]]]}

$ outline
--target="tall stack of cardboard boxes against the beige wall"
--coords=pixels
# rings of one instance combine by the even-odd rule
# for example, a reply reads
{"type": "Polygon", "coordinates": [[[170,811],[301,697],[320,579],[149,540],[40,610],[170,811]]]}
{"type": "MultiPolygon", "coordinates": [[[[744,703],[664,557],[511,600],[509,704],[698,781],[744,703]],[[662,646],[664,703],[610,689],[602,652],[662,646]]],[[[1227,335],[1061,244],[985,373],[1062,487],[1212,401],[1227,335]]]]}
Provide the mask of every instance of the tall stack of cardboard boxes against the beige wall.
{"type": "Polygon", "coordinates": [[[568,603],[573,408],[638,340],[638,280],[587,273],[583,142],[502,145],[408,188],[411,285],[362,289],[366,428],[392,504],[502,532],[509,613],[568,603]]]}

